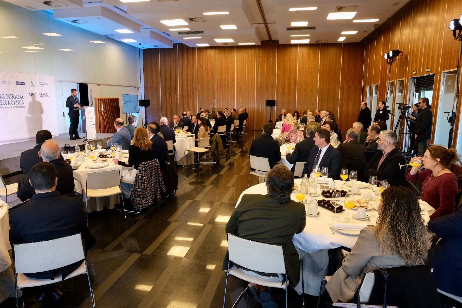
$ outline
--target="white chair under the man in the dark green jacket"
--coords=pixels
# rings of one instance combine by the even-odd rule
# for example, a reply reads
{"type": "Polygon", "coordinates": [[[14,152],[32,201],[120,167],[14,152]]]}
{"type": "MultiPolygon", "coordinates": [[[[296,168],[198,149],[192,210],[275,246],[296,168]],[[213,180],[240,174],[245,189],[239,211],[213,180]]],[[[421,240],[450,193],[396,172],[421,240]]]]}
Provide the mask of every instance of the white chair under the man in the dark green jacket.
{"type": "MultiPolygon", "coordinates": [[[[231,274],[241,278],[246,282],[264,285],[267,287],[281,288],[286,290],[286,308],[287,306],[287,285],[286,264],[284,262],[284,249],[281,245],[265,244],[243,239],[239,236],[228,233],[228,269],[226,272],[225,298],[223,299],[223,308],[226,302],[226,288],[228,286],[228,276],[231,274]],[[243,271],[230,262],[239,264],[249,270],[256,272],[274,273],[282,277],[256,276],[243,271]],[[285,279],[284,279],[285,278],[285,279]]],[[[255,273],[256,274],[256,273],[255,273]]],[[[302,275],[303,279],[303,275],[302,275]]],[[[303,286],[302,281],[302,286],[303,286]]],[[[249,290],[247,286],[237,298],[232,307],[242,298],[243,294],[249,290]]],[[[304,303],[303,303],[304,305],[304,303]]]]}

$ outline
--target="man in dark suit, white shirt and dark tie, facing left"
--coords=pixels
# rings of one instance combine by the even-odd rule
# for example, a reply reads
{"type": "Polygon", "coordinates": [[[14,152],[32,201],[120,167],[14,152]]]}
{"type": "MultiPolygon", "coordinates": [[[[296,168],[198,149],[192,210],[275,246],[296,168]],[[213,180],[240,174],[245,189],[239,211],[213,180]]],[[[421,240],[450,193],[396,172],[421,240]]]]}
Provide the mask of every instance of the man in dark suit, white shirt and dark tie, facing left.
{"type": "Polygon", "coordinates": [[[327,129],[318,129],[313,138],[315,147],[311,149],[310,156],[303,168],[303,174],[310,174],[317,167],[328,167],[329,177],[337,180],[340,175],[342,155],[330,145],[330,133],[327,129]]]}

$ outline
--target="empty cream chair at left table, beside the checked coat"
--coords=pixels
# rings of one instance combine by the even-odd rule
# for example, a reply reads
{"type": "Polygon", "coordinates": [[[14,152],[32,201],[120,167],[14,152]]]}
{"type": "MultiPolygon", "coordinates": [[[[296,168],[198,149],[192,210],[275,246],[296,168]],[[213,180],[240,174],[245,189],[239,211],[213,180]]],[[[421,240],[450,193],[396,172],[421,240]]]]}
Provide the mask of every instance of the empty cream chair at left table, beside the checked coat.
{"type": "MultiPolygon", "coordinates": [[[[130,183],[124,181],[125,183],[130,183]]],[[[89,172],[87,173],[87,186],[83,187],[85,192],[85,208],[86,208],[86,219],[88,221],[88,198],[107,197],[115,194],[121,195],[122,206],[123,206],[123,217],[127,219],[125,204],[122,196],[122,189],[120,187],[120,170],[110,170],[102,172],[89,172]]],[[[82,194],[83,197],[83,194],[82,194]]],[[[138,212],[136,212],[138,213],[138,212]]]]}

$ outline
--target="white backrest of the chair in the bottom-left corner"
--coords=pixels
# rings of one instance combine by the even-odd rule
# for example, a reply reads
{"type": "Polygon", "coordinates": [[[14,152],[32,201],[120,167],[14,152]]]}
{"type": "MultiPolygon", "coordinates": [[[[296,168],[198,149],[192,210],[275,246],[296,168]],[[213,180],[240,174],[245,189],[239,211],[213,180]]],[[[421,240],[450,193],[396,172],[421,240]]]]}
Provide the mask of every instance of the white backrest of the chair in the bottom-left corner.
{"type": "Polygon", "coordinates": [[[14,244],[13,247],[17,274],[50,271],[85,259],[80,233],[50,241],[14,244]]]}

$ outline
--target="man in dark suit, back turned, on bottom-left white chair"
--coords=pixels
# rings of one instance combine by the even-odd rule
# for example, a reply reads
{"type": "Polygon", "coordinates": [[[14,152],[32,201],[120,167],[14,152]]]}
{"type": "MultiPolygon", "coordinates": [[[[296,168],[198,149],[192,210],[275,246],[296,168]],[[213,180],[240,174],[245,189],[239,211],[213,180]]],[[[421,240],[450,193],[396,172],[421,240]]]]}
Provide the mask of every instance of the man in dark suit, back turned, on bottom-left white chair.
{"type": "MultiPolygon", "coordinates": [[[[29,181],[35,190],[29,201],[12,207],[9,212],[11,245],[54,240],[60,237],[82,234],[85,251],[92,248],[96,240],[87,229],[82,213],[82,199],[65,196],[56,191],[59,175],[52,163],[37,163],[29,171],[29,181]]],[[[37,260],[39,262],[39,260],[37,260]]],[[[66,278],[76,270],[83,260],[45,272],[25,273],[36,279],[54,279],[61,274],[66,278]]],[[[62,291],[53,290],[54,284],[43,287],[39,301],[56,301],[62,291]]]]}

